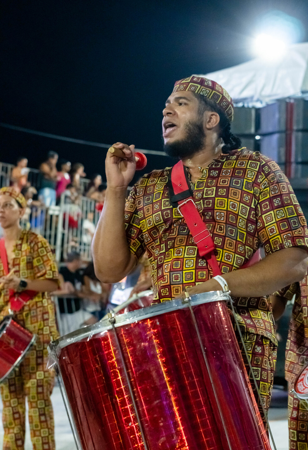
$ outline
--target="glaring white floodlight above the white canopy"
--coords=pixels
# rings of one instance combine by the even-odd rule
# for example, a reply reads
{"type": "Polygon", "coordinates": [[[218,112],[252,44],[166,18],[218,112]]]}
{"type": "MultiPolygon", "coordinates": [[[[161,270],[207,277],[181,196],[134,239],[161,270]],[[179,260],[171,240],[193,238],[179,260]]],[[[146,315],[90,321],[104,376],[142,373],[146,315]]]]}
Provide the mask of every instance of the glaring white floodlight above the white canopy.
{"type": "Polygon", "coordinates": [[[259,34],[254,39],[254,54],[264,59],[277,60],[285,53],[287,42],[269,34],[259,34]]]}

